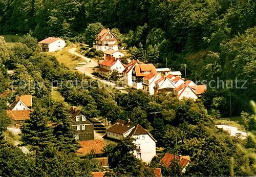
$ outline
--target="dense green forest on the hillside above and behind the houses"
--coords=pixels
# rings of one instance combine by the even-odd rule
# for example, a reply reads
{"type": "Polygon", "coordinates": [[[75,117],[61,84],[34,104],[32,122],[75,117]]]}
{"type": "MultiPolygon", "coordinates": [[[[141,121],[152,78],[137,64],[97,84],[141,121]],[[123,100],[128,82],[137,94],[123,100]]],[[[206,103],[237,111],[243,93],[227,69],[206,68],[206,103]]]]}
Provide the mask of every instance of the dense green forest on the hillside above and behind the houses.
{"type": "MultiPolygon", "coordinates": [[[[1,0],[0,5],[0,34],[31,30],[38,40],[61,36],[91,45],[88,35],[95,31],[88,25],[101,23],[115,28],[120,44],[133,47],[136,59],[183,74],[186,70],[194,81],[223,80],[224,86],[211,84],[218,89],[208,88],[204,103],[222,116],[230,116],[230,99],[233,116],[250,111],[249,100],[256,99],[255,1],[1,0]],[[247,89],[234,88],[236,78],[240,88],[246,80],[247,89]]],[[[102,25],[93,29],[97,32],[102,25]]]]}

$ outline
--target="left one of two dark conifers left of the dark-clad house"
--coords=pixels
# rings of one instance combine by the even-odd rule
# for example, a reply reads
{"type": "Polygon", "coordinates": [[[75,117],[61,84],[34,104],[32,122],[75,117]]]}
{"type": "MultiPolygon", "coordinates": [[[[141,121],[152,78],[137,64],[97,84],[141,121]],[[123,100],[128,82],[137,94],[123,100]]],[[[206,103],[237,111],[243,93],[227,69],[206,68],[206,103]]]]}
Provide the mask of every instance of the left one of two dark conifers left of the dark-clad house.
{"type": "Polygon", "coordinates": [[[35,108],[22,129],[22,141],[25,145],[32,145],[32,149],[43,150],[47,145],[56,141],[53,129],[48,126],[49,118],[45,108],[35,108]]]}

